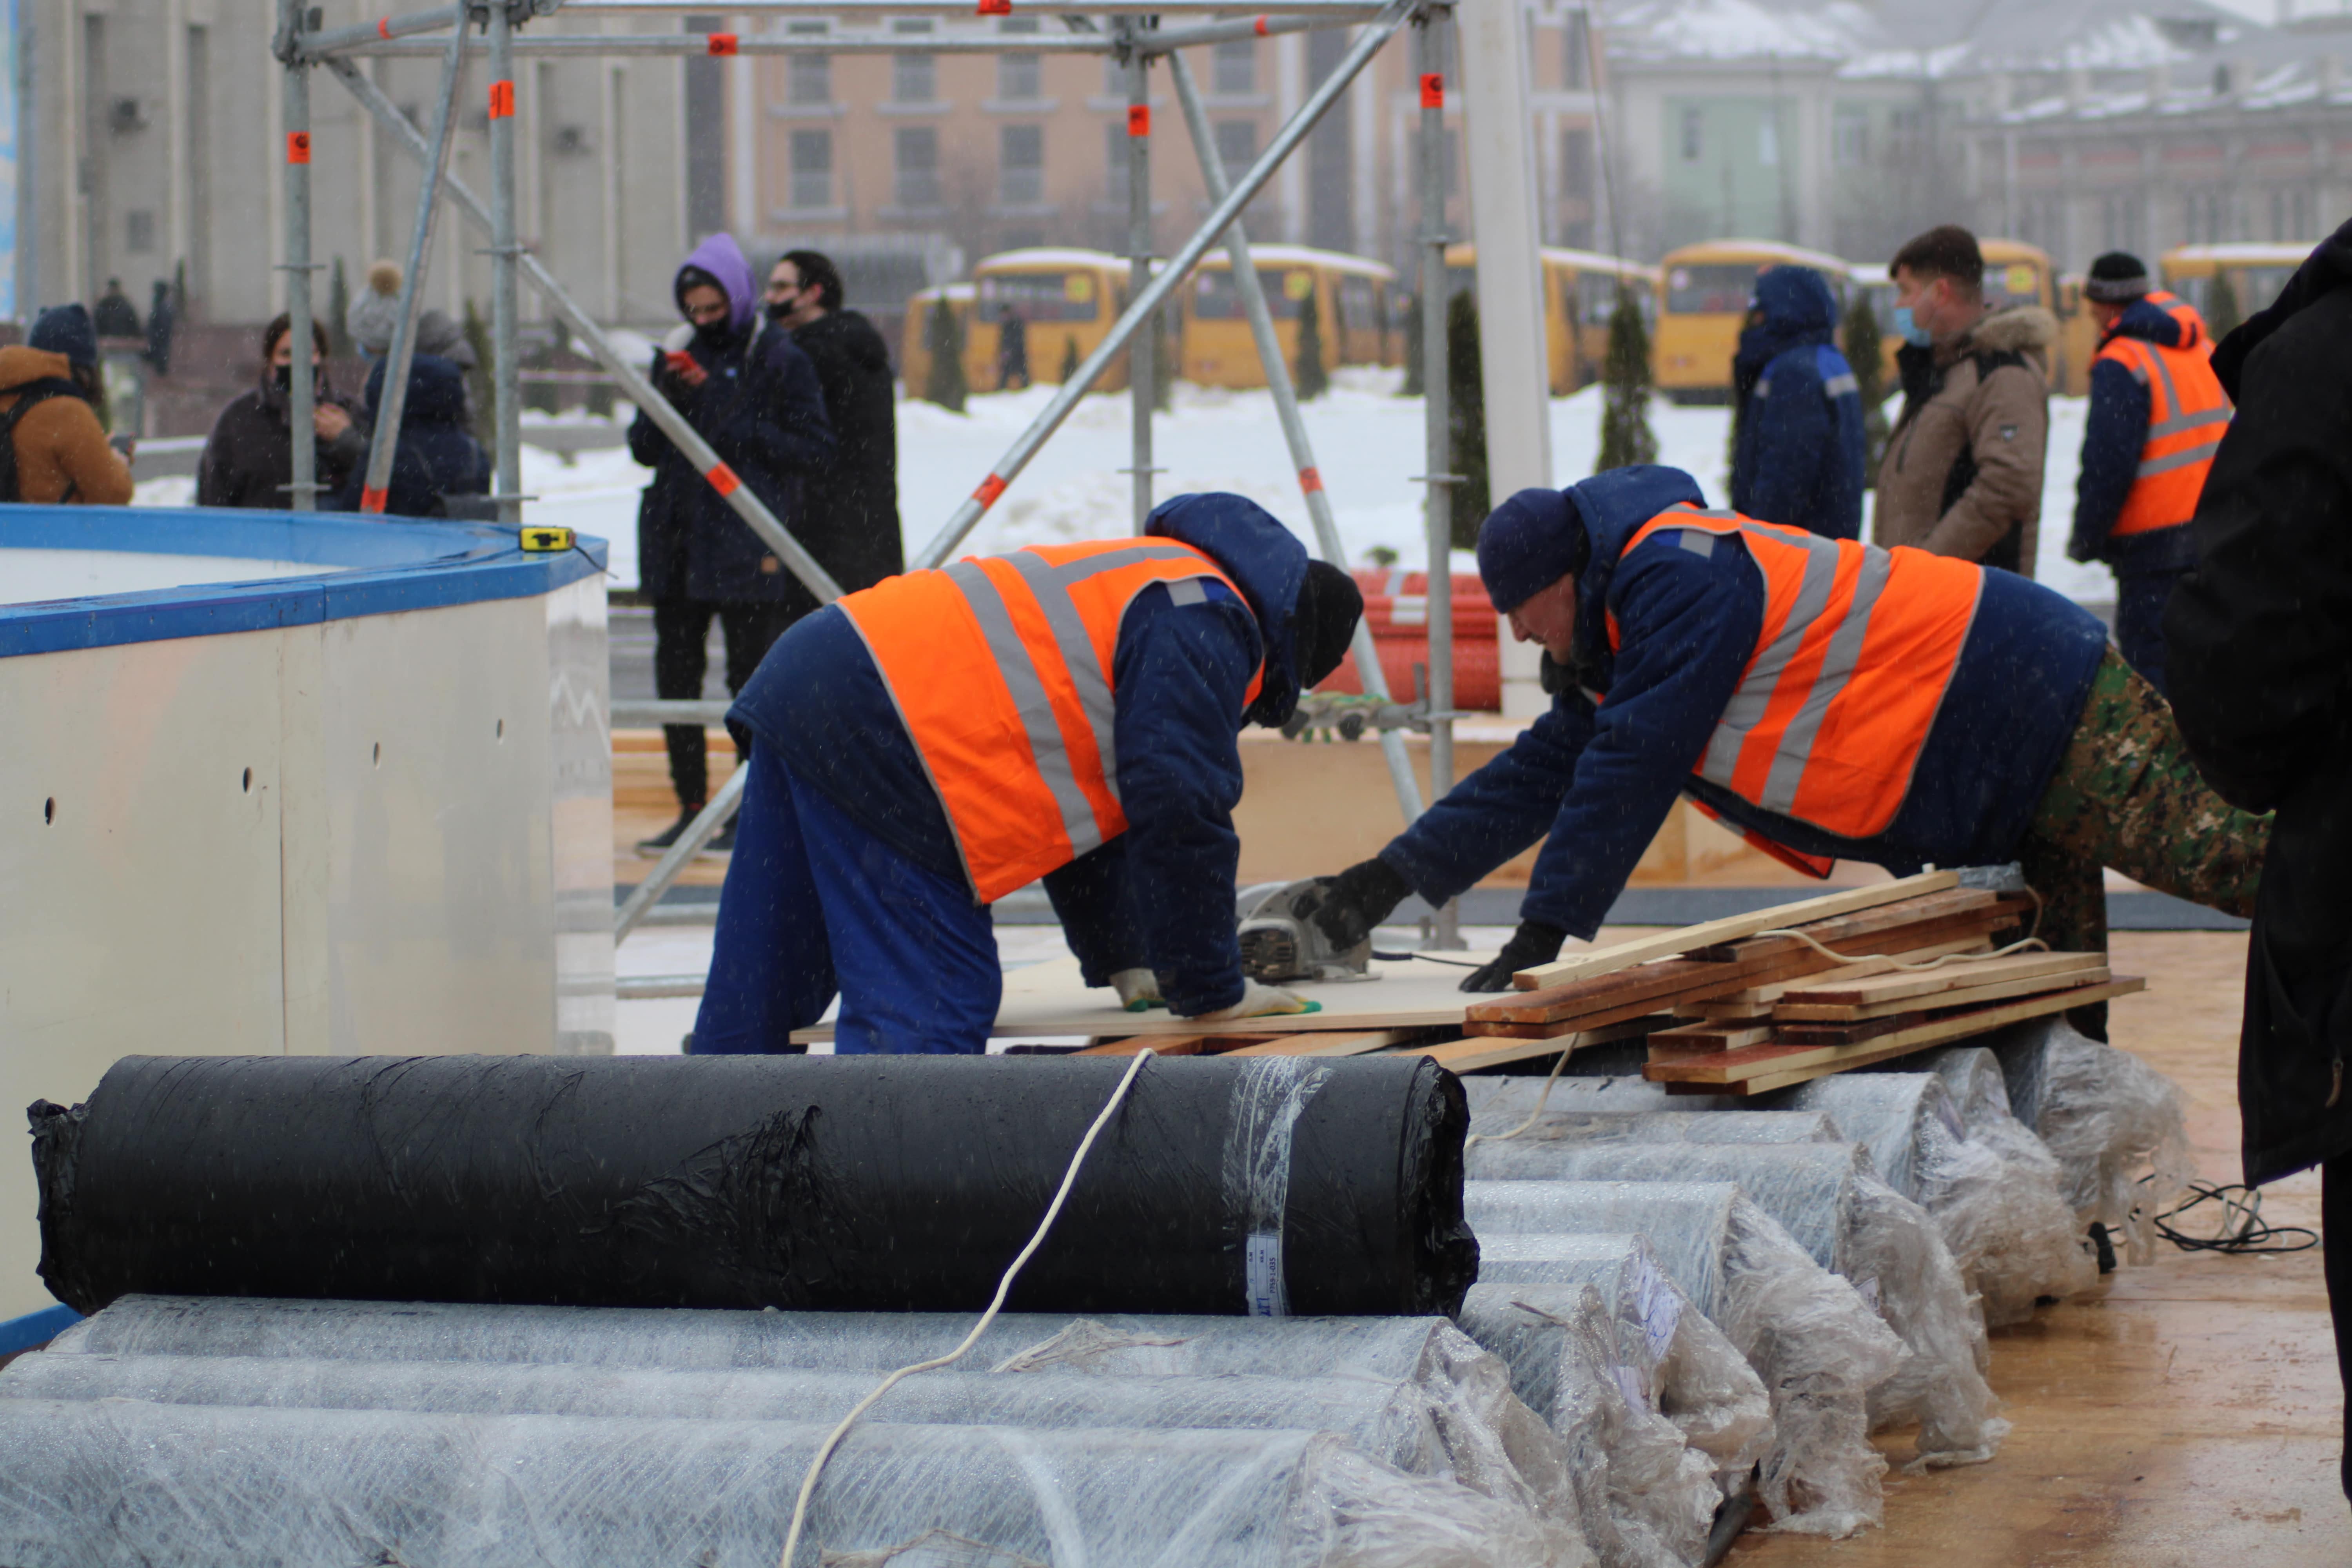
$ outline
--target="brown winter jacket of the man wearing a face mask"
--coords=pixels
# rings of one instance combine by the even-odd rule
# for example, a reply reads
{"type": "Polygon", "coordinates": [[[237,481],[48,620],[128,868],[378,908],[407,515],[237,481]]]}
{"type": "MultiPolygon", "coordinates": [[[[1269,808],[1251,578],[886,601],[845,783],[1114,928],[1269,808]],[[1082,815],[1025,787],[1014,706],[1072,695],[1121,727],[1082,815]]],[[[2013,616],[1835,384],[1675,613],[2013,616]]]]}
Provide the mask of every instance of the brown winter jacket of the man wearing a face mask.
{"type": "Polygon", "coordinates": [[[1877,543],[2034,574],[2056,341],[2058,317],[2018,306],[1903,367],[1903,418],[1886,437],[1870,527],[1877,543]],[[2016,357],[1978,378],[1994,355],[2016,357]]]}

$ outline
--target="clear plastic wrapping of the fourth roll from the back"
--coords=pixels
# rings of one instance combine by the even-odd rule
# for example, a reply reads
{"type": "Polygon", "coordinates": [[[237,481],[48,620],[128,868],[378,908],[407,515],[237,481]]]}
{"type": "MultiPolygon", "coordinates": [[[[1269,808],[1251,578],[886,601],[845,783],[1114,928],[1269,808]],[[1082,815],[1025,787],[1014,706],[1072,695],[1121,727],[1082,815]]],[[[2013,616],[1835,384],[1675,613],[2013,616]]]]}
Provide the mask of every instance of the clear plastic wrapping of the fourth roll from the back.
{"type": "Polygon", "coordinates": [[[1736,1185],[1470,1182],[1463,1206],[1482,1237],[1644,1237],[1771,1394],[1759,1493],[1773,1528],[1851,1535],[1877,1523],[1886,1460],[1870,1446],[1865,1403],[1903,1342],[1736,1185]]]}

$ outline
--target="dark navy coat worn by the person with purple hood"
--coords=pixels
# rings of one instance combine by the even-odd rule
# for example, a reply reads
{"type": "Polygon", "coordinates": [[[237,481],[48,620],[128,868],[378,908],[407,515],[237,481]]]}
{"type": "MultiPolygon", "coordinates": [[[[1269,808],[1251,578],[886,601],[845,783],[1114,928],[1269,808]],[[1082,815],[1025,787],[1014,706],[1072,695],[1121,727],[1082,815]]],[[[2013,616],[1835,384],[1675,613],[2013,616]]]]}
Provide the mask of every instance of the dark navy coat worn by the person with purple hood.
{"type": "MultiPolygon", "coordinates": [[[[654,353],[652,378],[750,494],[776,512],[776,522],[797,536],[804,477],[833,463],[833,423],[816,369],[793,348],[793,334],[757,317],[750,334],[720,343],[694,334],[684,343],[684,353],[710,376],[701,388],[673,376],[663,350],[654,353]]],[[[637,583],[647,597],[816,609],[816,595],[644,414],[628,428],[628,451],[654,470],[637,505],[637,583]]]]}

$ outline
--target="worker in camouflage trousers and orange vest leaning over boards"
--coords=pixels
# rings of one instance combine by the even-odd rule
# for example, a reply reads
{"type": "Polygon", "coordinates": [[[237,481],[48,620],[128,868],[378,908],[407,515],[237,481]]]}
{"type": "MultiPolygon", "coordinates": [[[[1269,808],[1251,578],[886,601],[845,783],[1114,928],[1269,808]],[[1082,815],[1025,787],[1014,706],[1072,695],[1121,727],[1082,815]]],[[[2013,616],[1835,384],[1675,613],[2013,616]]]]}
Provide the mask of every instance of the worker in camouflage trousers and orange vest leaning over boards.
{"type": "Polygon", "coordinates": [[[1710,512],[1677,468],[1524,489],[1477,564],[1552,708],[1327,882],[1334,940],[1543,837],[1517,933],[1463,983],[1503,990],[1599,929],[1677,795],[1813,875],[2023,858],[2051,947],[2105,947],[2103,865],[2253,903],[2263,823],[2197,778],[2100,623],[2020,576],[1710,512]]]}

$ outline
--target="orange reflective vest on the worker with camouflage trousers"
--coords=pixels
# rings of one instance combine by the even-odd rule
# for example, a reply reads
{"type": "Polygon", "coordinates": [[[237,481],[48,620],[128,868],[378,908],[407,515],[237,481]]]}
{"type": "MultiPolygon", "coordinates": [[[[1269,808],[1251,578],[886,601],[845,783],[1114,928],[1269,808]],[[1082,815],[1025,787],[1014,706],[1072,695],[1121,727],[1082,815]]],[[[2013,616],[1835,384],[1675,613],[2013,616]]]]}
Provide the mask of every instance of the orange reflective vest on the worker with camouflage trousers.
{"type": "MultiPolygon", "coordinates": [[[[1823,832],[1884,832],[1959,668],[1983,567],[1693,505],[1651,517],[1625,552],[1661,529],[1682,529],[1682,548],[1696,555],[1738,534],[1764,576],[1757,649],[1698,776],[1823,832]]],[[[1609,646],[1618,646],[1616,616],[1609,646]]]]}

